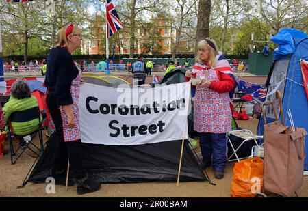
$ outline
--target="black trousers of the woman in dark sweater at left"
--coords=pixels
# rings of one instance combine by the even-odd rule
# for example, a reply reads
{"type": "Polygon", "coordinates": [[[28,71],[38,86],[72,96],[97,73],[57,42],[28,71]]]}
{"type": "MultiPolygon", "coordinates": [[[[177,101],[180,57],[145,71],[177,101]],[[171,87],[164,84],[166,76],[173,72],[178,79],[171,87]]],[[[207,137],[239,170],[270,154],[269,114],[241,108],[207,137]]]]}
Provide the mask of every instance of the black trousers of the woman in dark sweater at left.
{"type": "Polygon", "coordinates": [[[62,172],[66,169],[69,160],[73,178],[84,178],[86,171],[82,167],[81,140],[64,142],[62,118],[57,99],[53,94],[47,94],[46,102],[57,133],[52,172],[62,172]]]}

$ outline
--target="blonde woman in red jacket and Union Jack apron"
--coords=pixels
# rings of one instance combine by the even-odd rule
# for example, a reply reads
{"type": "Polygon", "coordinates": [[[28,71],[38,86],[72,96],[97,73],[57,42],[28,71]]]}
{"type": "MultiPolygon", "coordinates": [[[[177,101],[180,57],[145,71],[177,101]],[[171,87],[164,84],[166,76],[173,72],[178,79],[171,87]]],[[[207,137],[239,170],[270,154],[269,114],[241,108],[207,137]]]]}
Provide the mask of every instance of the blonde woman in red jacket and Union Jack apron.
{"type": "Polygon", "coordinates": [[[213,165],[217,179],[224,177],[227,163],[227,132],[231,130],[229,92],[235,84],[230,72],[230,65],[221,59],[214,40],[205,38],[198,42],[196,64],[185,74],[188,79],[199,81],[194,98],[194,130],[200,134],[201,167],[213,165]]]}

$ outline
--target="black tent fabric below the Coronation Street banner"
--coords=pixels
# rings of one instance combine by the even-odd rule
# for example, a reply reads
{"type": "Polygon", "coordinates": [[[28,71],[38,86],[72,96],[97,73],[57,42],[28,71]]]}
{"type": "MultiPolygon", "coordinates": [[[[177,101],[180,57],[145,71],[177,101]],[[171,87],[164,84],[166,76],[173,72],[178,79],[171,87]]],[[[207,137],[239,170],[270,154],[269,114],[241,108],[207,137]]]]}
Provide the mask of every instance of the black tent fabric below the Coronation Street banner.
{"type": "MultiPolygon", "coordinates": [[[[43,183],[51,176],[55,135],[47,141],[46,149],[29,176],[28,182],[43,183]]],[[[88,176],[101,183],[138,183],[176,181],[181,141],[144,145],[96,145],[82,143],[83,165],[88,176]]],[[[207,180],[194,154],[185,141],[180,181],[207,180]]]]}

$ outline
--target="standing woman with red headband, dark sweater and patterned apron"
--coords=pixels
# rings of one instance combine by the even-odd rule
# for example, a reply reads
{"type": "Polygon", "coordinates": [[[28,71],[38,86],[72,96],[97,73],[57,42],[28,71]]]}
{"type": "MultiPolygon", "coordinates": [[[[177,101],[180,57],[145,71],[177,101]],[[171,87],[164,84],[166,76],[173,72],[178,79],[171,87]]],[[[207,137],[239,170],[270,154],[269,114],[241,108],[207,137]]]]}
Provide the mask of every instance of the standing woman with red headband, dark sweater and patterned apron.
{"type": "MultiPolygon", "coordinates": [[[[51,49],[47,58],[44,82],[47,85],[46,102],[58,137],[51,173],[56,184],[65,185],[69,160],[77,194],[101,188],[100,183],[88,179],[82,166],[78,107],[81,70],[75,66],[71,55],[81,45],[81,40],[81,31],[73,23],[60,29],[59,44],[51,49]]],[[[73,185],[73,181],[69,184],[73,185]]]]}

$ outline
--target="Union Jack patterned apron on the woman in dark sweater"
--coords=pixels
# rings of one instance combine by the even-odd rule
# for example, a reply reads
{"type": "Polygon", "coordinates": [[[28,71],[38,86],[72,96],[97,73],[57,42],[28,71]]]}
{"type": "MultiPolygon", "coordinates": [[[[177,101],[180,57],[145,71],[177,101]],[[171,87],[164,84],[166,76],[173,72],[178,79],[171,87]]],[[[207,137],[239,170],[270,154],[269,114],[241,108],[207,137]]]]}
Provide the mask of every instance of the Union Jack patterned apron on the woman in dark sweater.
{"type": "Polygon", "coordinates": [[[62,127],[63,127],[63,136],[64,141],[77,141],[81,139],[80,136],[80,124],[79,124],[79,92],[80,92],[80,81],[81,81],[81,70],[78,68],[79,73],[78,76],[72,81],[72,85],[70,86],[70,94],[73,99],[73,114],[75,117],[75,126],[74,128],[68,128],[68,117],[63,109],[60,106],[60,112],[62,117],[62,127]]]}

